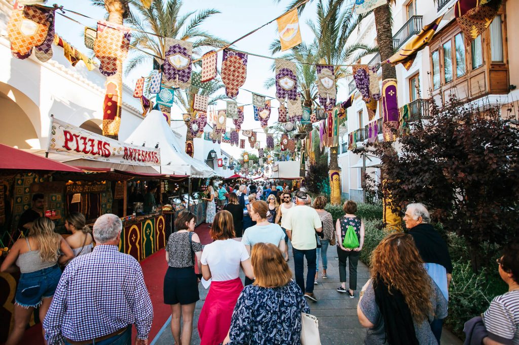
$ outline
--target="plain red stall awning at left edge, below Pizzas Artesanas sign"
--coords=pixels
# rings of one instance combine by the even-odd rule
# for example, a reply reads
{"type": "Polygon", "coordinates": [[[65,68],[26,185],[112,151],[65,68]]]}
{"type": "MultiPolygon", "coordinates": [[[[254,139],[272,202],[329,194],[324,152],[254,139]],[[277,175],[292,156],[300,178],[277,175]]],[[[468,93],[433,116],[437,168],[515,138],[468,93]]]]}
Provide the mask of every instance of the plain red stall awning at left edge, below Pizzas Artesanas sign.
{"type": "Polygon", "coordinates": [[[0,157],[2,157],[0,169],[83,172],[83,170],[70,165],[18,150],[2,143],[0,143],[0,157]]]}

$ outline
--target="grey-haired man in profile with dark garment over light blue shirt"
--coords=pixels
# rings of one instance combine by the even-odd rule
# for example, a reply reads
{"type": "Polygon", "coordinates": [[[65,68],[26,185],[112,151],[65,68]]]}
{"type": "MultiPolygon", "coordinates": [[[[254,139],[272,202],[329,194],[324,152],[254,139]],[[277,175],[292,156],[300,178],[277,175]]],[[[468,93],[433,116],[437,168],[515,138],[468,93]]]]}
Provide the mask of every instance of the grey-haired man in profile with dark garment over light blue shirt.
{"type": "MultiPolygon", "coordinates": [[[[440,287],[445,299],[448,300],[448,286],[452,278],[453,264],[450,261],[447,243],[434,227],[429,224],[431,217],[423,204],[409,204],[405,211],[405,227],[413,236],[416,247],[431,279],[440,287]]],[[[431,323],[432,332],[440,343],[443,320],[431,323]]]]}

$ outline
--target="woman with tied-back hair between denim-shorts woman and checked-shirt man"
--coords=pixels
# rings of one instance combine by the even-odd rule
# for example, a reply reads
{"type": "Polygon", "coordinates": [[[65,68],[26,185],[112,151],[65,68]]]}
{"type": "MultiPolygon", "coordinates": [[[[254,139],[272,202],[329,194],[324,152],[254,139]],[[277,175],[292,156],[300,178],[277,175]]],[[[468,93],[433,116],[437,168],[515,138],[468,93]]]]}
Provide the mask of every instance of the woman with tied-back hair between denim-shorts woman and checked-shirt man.
{"type": "Polygon", "coordinates": [[[85,223],[83,213],[73,212],[65,218],[65,228],[72,233],[65,241],[72,248],[74,257],[88,254],[93,248],[92,231],[85,223]]]}

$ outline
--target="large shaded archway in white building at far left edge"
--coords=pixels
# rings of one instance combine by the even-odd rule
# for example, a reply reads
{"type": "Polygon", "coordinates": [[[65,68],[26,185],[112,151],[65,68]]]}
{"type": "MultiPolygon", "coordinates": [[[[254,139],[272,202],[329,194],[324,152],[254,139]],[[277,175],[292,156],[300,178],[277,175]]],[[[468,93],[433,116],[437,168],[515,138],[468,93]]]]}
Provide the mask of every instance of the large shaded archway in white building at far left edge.
{"type": "Polygon", "coordinates": [[[19,149],[40,149],[38,135],[28,114],[17,102],[1,91],[0,109],[2,109],[0,141],[5,145],[16,146],[19,149]]]}

